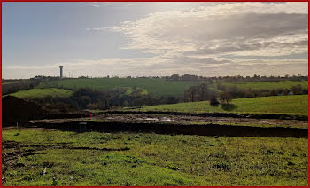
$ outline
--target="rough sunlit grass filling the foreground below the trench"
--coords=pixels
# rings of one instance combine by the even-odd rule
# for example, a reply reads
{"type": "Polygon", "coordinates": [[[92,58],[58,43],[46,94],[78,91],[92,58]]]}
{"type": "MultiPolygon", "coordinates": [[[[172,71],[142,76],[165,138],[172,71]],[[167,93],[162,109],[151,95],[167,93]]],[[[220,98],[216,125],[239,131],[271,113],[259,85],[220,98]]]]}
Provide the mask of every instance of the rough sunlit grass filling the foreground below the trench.
{"type": "Polygon", "coordinates": [[[15,147],[3,155],[19,157],[4,162],[3,185],[307,185],[308,178],[303,138],[4,130],[4,145],[10,141],[15,147]]]}

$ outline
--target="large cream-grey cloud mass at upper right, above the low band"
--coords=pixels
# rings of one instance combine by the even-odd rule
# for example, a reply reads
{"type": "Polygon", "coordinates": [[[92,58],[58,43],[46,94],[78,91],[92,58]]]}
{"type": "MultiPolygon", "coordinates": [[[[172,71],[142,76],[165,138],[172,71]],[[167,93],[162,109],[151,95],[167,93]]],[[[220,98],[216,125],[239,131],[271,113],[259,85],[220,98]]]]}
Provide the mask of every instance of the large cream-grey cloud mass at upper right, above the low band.
{"type": "Polygon", "coordinates": [[[307,51],[303,43],[308,40],[306,5],[219,4],[190,11],[151,13],[112,29],[131,39],[124,49],[136,51],[283,55],[307,51]]]}

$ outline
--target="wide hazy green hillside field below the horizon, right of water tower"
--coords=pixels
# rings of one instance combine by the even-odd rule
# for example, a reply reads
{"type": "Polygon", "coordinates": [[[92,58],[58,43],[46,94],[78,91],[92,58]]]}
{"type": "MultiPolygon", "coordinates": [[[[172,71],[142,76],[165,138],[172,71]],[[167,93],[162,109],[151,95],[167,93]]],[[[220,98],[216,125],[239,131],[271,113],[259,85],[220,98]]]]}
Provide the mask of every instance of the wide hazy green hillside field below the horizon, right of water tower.
{"type": "Polygon", "coordinates": [[[157,96],[182,97],[184,90],[200,83],[203,82],[166,82],[162,78],[89,78],[42,82],[37,88],[64,87],[66,89],[75,89],[90,87],[107,90],[115,87],[136,87],[157,96]]]}

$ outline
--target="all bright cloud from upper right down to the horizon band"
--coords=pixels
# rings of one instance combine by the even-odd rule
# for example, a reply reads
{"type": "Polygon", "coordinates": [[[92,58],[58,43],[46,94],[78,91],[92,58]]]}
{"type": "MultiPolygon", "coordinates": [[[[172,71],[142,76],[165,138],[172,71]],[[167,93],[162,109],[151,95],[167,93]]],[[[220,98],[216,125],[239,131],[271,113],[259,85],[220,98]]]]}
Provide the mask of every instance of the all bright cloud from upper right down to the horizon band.
{"type": "Polygon", "coordinates": [[[81,74],[97,76],[307,74],[307,58],[289,58],[308,51],[307,9],[305,2],[228,3],[155,12],[112,28],[87,28],[120,32],[130,39],[122,49],[153,53],[154,57],[59,63],[75,73],[81,70],[81,74]],[[229,59],[234,56],[248,59],[229,59]],[[288,59],[274,58],[278,56],[288,59]]]}

